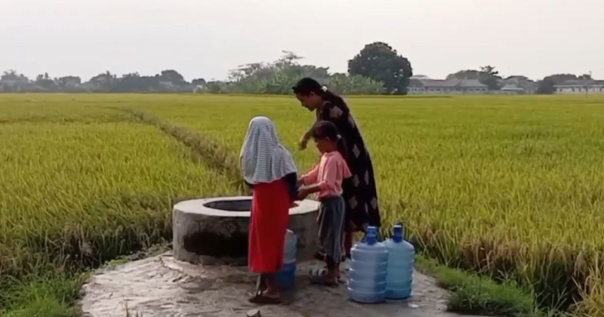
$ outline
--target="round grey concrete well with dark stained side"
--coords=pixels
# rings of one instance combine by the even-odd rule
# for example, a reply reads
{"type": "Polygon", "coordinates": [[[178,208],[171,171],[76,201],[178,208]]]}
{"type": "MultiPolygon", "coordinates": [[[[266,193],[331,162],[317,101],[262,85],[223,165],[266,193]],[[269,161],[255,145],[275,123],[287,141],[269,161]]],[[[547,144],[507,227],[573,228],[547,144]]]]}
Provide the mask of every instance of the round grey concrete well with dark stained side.
{"type": "MultiPolygon", "coordinates": [[[[173,253],[176,260],[202,264],[246,265],[249,196],[184,200],[173,208],[173,253]]],[[[319,203],[296,202],[288,228],[298,238],[298,260],[318,251],[316,216],[319,203]]]]}

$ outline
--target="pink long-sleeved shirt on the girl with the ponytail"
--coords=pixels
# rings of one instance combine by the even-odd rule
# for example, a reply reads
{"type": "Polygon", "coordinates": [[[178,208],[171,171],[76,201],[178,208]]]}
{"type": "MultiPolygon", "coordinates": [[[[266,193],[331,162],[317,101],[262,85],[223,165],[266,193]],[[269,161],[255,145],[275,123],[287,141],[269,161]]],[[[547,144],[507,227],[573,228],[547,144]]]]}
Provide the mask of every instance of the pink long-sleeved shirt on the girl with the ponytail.
{"type": "Polygon", "coordinates": [[[340,196],[342,180],[352,177],[342,155],[337,152],[324,153],[321,162],[309,173],[302,176],[304,185],[318,185],[318,197],[340,196]]]}

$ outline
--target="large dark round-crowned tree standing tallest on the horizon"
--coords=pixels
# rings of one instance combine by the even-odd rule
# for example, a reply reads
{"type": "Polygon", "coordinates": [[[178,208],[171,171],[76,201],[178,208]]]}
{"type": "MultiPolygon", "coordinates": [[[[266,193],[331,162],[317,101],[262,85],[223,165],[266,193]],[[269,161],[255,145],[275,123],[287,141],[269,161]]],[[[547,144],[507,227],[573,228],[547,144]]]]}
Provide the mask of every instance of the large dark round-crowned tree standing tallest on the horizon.
{"type": "Polygon", "coordinates": [[[348,72],[384,83],[385,91],[391,94],[406,94],[413,75],[409,60],[384,42],[365,45],[348,61],[348,72]]]}

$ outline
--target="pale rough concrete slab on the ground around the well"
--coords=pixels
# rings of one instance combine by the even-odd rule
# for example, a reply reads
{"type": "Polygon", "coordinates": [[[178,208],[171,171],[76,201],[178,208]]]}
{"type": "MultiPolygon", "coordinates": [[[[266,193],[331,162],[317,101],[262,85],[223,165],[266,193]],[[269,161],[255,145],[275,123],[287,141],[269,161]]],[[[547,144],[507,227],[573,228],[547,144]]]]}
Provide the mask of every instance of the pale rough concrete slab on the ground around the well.
{"type": "Polygon", "coordinates": [[[120,264],[94,274],[83,286],[83,316],[246,316],[259,309],[264,317],[311,316],[459,316],[445,312],[448,292],[431,277],[414,272],[413,297],[382,304],[356,304],[346,287],[310,285],[307,272],[321,263],[298,266],[291,300],[259,306],[248,303],[256,276],[246,267],[199,266],[162,254],[120,264]]]}

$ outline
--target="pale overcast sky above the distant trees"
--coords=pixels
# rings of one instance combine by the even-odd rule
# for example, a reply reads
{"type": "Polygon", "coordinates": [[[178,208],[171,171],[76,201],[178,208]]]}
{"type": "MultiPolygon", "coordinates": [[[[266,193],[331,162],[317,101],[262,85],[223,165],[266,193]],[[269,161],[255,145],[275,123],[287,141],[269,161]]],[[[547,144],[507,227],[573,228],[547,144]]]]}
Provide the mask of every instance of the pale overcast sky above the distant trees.
{"type": "Polygon", "coordinates": [[[490,64],[604,79],[604,0],[0,0],[0,70],[29,77],[223,79],[281,50],[342,72],[374,41],[433,78],[490,64]]]}

